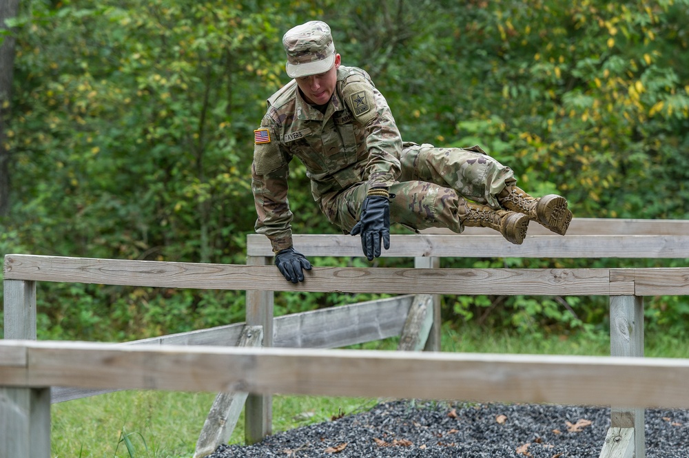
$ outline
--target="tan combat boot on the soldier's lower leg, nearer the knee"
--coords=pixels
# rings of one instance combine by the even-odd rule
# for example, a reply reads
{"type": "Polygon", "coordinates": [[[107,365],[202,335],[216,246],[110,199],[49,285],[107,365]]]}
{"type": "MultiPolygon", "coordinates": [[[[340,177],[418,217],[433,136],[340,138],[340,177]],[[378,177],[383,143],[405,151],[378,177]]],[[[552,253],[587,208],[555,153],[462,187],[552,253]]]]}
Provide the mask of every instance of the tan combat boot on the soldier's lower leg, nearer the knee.
{"type": "Polygon", "coordinates": [[[490,227],[502,233],[513,244],[520,245],[526,237],[528,216],[504,209],[494,210],[488,205],[466,202],[464,214],[460,207],[460,218],[466,227],[490,227]]]}

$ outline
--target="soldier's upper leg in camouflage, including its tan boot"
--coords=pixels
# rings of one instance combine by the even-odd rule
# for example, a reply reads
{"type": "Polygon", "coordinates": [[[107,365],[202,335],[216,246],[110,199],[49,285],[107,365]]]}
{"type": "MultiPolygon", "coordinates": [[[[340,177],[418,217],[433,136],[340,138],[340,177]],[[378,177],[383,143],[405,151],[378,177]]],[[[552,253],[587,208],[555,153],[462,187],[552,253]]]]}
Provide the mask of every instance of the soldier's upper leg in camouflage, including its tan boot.
{"type": "Polygon", "coordinates": [[[400,157],[400,180],[425,180],[451,187],[476,202],[494,209],[526,214],[551,231],[564,235],[572,220],[567,200],[550,194],[533,198],[516,186],[513,171],[480,148],[405,147],[400,157]]]}

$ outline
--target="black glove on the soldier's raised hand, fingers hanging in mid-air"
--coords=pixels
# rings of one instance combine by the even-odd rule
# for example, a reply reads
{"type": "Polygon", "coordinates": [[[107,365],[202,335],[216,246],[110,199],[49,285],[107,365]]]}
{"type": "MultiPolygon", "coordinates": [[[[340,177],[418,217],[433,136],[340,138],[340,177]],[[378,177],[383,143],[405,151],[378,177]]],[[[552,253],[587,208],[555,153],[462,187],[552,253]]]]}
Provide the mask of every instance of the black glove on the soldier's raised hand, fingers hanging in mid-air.
{"type": "Polygon", "coordinates": [[[380,245],[390,248],[390,197],[384,187],[369,189],[361,208],[361,218],[350,235],[361,233],[361,249],[369,261],[380,256],[380,245]]]}

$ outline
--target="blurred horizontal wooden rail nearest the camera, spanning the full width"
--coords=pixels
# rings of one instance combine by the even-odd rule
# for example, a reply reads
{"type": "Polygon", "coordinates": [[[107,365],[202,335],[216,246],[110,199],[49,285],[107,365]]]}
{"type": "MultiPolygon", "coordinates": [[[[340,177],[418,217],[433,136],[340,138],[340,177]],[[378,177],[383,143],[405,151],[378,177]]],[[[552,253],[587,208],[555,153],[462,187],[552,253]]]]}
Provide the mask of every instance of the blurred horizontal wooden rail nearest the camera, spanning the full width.
{"type": "Polygon", "coordinates": [[[689,360],[679,359],[7,340],[0,368],[0,386],[15,387],[689,408],[689,360]]]}

